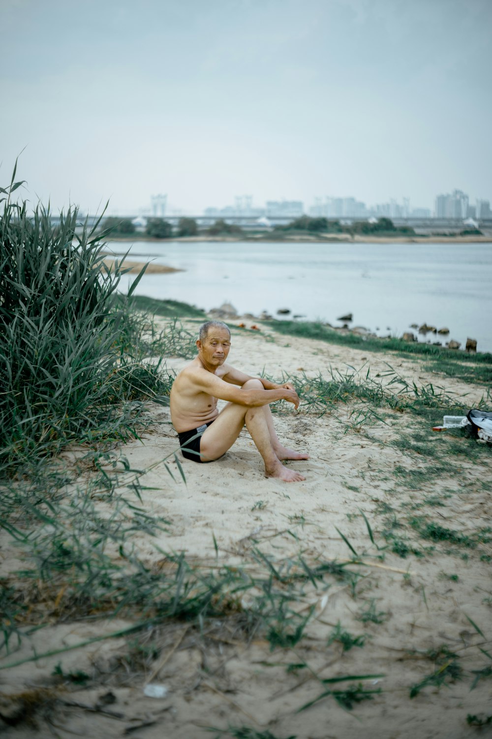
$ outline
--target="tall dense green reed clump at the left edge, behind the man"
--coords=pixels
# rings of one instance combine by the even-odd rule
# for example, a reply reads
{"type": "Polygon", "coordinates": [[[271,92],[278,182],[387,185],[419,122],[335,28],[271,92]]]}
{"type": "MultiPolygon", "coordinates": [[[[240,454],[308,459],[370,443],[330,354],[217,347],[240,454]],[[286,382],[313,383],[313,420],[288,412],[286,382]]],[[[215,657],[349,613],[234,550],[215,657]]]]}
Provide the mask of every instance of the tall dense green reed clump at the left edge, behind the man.
{"type": "Polygon", "coordinates": [[[0,472],[10,474],[95,430],[131,434],[136,409],[122,412],[117,369],[139,330],[117,301],[125,270],[103,265],[99,222],[80,223],[75,207],[57,225],[49,206],[30,215],[13,202],[14,180],[15,169],[0,188],[0,472]]]}

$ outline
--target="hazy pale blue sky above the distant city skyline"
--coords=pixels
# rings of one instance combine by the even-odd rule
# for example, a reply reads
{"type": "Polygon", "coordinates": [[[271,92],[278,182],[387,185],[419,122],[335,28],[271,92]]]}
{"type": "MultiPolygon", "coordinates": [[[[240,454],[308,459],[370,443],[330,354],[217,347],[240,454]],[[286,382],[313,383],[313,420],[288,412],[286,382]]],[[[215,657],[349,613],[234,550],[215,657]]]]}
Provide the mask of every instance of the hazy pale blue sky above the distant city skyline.
{"type": "Polygon", "coordinates": [[[94,211],[150,194],[492,200],[491,0],[0,0],[0,185],[94,211]]]}

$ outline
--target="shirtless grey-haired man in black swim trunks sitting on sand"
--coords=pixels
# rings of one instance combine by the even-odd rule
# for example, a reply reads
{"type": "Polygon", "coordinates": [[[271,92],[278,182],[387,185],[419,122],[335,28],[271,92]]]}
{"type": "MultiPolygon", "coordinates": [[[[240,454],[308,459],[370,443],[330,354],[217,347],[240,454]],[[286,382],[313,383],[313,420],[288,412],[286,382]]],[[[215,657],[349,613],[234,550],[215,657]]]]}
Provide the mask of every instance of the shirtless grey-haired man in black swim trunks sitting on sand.
{"type": "Polygon", "coordinates": [[[298,454],[280,443],[268,407],[268,403],[284,400],[298,408],[294,387],[252,378],[225,364],[231,333],[221,321],[204,323],[196,346],[198,357],[181,369],[170,395],[171,418],[185,459],[218,459],[231,448],[246,423],[263,457],[266,477],[278,477],[286,483],[305,480],[281,460],[307,460],[308,454],[298,454]],[[220,413],[218,399],[229,401],[220,413]]]}

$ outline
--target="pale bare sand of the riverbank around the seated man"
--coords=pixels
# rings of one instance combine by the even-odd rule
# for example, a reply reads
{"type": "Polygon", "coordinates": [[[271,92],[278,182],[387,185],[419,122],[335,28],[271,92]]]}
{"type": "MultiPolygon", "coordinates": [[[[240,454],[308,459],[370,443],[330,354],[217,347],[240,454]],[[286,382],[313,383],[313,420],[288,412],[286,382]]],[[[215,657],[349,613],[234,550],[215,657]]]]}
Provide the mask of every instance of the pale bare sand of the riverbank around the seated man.
{"type": "MultiPolygon", "coordinates": [[[[283,371],[328,376],[330,367],[342,372],[354,367],[364,376],[370,367],[376,377],[387,372],[389,363],[410,383],[420,386],[432,381],[457,396],[466,395],[463,406],[473,407],[482,396],[482,388],[437,378],[411,358],[278,336],[265,328],[257,333],[233,330],[229,363],[251,375],[266,372],[276,378],[283,371]]],[[[170,358],[167,367],[178,371],[184,364],[170,358]]],[[[52,709],[51,728],[45,719],[38,718],[37,726],[1,726],[3,735],[8,739],[52,735],[112,739],[125,732],[137,739],[218,735],[207,732],[207,726],[248,726],[257,732],[236,734],[245,738],[461,739],[472,735],[467,715],[492,713],[492,680],[483,679],[471,690],[474,675],[470,672],[491,665],[491,659],[480,651],[492,651],[491,565],[480,559],[484,552],[492,554],[491,545],[484,544],[479,551],[456,549],[454,554],[446,554],[450,548],[446,544],[424,551],[432,542],[415,539],[424,556],[410,554],[403,559],[389,550],[378,551],[361,511],[370,522],[375,542],[384,546],[387,542],[381,531],[387,522],[378,512],[384,504],[392,506],[398,517],[411,514],[412,505],[419,514],[424,498],[451,486],[453,494],[425,512],[441,525],[462,532],[490,525],[491,488],[479,484],[492,483],[490,463],[484,463],[478,481],[477,467],[465,462],[459,477],[424,480],[417,489],[398,489],[395,467],[417,468],[423,461],[419,454],[409,454],[391,442],[402,429],[421,423],[417,418],[395,412],[386,423],[376,421],[357,431],[350,426],[350,408],[342,404],[337,417],[316,418],[306,414],[302,406],[295,412],[283,403],[274,414],[275,424],[284,443],[311,454],[310,460],[289,463],[302,471],[305,482],[285,484],[266,479],[260,456],[244,431],[215,463],[198,465],[180,457],[184,484],[176,462],[169,464],[176,482],[163,462],[177,449],[169,409],[151,405],[150,412],[151,429],[142,440],[123,445],[122,453],[132,467],[153,466],[141,480],[148,486],[143,505],[149,514],[170,520],[170,527],[156,538],[136,536],[135,546],[142,558],[149,563],[162,561],[158,546],[163,551],[183,551],[190,562],[201,563],[205,569],[226,564],[256,572],[260,565],[254,562],[252,552],[257,548],[277,567],[299,553],[310,566],[334,560],[343,563],[353,558],[353,552],[341,531],[359,556],[361,564],[350,565],[360,575],[358,582],[354,588],[330,577],[316,586],[305,583],[303,593],[289,607],[301,614],[312,609],[312,616],[304,638],[291,650],[271,650],[264,633],[255,633],[248,643],[240,629],[235,630],[232,618],[226,626],[220,621],[205,624],[208,636],[201,636],[186,622],[154,630],[149,639],[162,651],[155,661],[150,660],[145,673],[135,674],[122,667],[128,641],[134,636],[128,641],[108,639],[64,653],[64,672],[83,670],[95,675],[96,681],[89,687],[55,690],[58,699],[52,709]],[[375,621],[380,622],[359,620],[371,609],[375,621]],[[365,635],[364,646],[344,651],[339,641],[327,645],[338,622],[353,635],[365,635]],[[427,650],[438,650],[443,644],[459,656],[462,679],[440,689],[424,687],[411,699],[412,685],[435,669],[446,669],[446,663],[434,663],[426,655],[427,650]],[[288,665],[302,663],[308,667],[288,669],[288,665]],[[340,687],[323,684],[323,679],[343,675],[375,675],[342,683],[342,687],[362,682],[365,689],[381,692],[374,693],[372,700],[354,704],[351,711],[328,695],[299,712],[325,689],[340,687]],[[143,691],[148,681],[167,687],[167,696],[146,697],[143,691]]],[[[77,450],[67,450],[63,463],[70,466],[75,457],[77,450]]],[[[15,569],[12,562],[8,565],[9,557],[15,557],[18,565],[20,554],[6,538],[0,552],[4,568],[15,569]]],[[[252,594],[243,597],[247,601],[252,594]]],[[[114,632],[129,623],[116,619],[53,622],[25,638],[3,664],[30,655],[33,649],[43,653],[114,632]]],[[[55,655],[0,672],[1,692],[18,695],[33,687],[52,686],[50,675],[58,662],[60,656],[55,655]]]]}

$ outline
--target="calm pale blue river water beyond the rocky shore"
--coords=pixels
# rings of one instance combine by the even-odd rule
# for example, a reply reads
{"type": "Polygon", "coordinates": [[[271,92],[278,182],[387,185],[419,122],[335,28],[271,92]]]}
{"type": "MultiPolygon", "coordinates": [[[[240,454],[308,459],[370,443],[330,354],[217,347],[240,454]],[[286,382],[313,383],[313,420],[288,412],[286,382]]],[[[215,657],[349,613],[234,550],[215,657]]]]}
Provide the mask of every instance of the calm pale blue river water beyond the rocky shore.
{"type": "MultiPolygon", "coordinates": [[[[410,324],[448,327],[443,341],[477,339],[492,351],[492,243],[320,244],[110,242],[108,251],[179,268],[145,275],[136,293],[209,310],[231,302],[238,313],[277,316],[288,308],[310,321],[401,336],[410,324]]],[[[122,280],[122,289],[134,276],[122,280]]],[[[433,334],[420,336],[432,341],[433,334]]]]}

